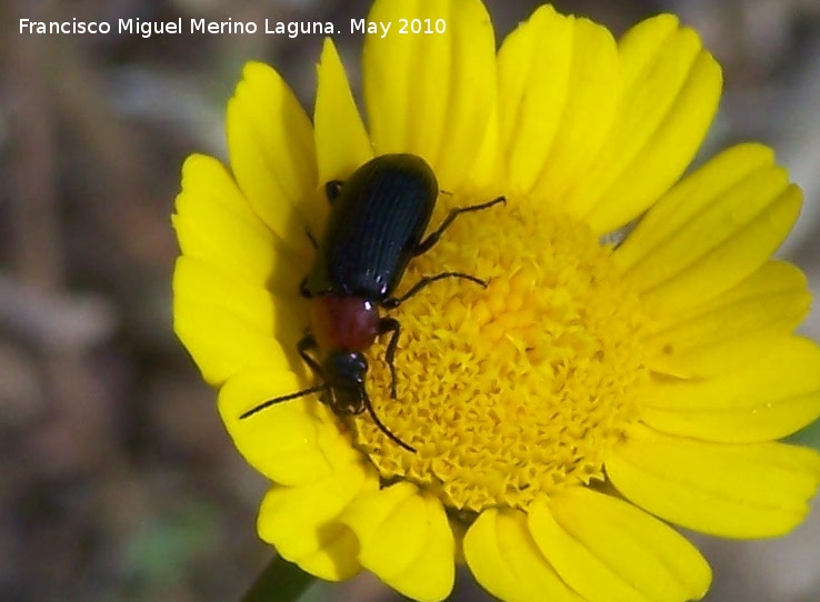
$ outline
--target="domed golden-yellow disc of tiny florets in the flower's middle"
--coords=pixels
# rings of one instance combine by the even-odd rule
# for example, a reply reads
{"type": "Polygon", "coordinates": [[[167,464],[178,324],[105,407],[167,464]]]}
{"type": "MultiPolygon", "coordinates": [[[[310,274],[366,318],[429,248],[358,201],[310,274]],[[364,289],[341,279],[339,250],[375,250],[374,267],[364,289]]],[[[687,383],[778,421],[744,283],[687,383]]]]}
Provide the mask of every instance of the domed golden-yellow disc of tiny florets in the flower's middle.
{"type": "MultiPolygon", "coordinates": [[[[432,223],[477,202],[441,197],[432,223]]],[[[458,510],[527,508],[602,481],[607,451],[637,419],[647,373],[638,297],[586,224],[536,205],[511,199],[460,215],[410,263],[398,294],[446,271],[488,287],[440,280],[390,312],[401,323],[397,399],[388,338],[368,353],[373,409],[417,452],[367,413],[353,420],[358,447],[383,479],[416,482],[458,510]]]]}

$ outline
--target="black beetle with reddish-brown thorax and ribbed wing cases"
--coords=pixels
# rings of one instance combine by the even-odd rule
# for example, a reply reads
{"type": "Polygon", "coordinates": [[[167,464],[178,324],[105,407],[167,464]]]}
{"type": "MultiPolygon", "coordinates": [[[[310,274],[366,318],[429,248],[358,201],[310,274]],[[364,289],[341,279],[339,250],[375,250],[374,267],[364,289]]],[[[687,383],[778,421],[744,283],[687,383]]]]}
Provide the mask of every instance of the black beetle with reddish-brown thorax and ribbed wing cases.
{"type": "Polygon", "coordinates": [[[378,418],[366,390],[368,362],[364,351],[377,337],[390,334],[384,359],[390,368],[390,394],[396,399],[396,348],[401,325],[380,315],[379,308],[394,309],[424,287],[447,278],[461,278],[487,287],[473,275],[441,272],[424,277],[406,293],[394,297],[410,260],[427,252],[461,213],[506,202],[489,202],[450,210],[441,224],[422,238],[430,224],[439,194],[436,174],[414,154],[382,154],[371,159],[346,181],[324,187],[330,215],[317,243],[316,258],[300,284],[310,301],[310,329],[297,351],[323,381],[248,410],[240,419],[296,398],[327,392],[327,403],[338,417],[367,410],[376,425],[408,451],[416,450],[394,435],[378,418]],[[319,359],[310,352],[318,351],[319,359]]]}

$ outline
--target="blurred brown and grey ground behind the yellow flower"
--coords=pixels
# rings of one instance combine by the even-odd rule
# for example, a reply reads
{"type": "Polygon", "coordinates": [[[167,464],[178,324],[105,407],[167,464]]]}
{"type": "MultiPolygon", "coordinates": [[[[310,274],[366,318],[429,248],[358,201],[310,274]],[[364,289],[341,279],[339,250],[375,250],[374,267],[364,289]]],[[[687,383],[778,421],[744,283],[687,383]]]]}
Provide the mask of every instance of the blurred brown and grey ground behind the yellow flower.
{"type": "MultiPolygon", "coordinates": [[[[538,2],[487,0],[501,39],[538,2]]],[[[772,144],[806,191],[781,254],[820,287],[820,0],[563,1],[618,33],[679,12],[724,66],[706,151],[772,144]]],[[[369,1],[0,1],[0,600],[231,601],[267,562],[266,483],[171,332],[169,215],[192,151],[224,157],[242,63],[277,67],[307,107],[321,39],[23,36],[19,19],[182,17],[347,26],[369,1]]],[[[358,79],[361,38],[340,36],[358,79]]],[[[817,308],[804,332],[820,339],[817,308]]],[[[817,503],[816,505],[820,505],[817,503]]],[[[820,599],[820,509],[789,538],[698,540],[710,601],[820,599]]],[[[311,600],[394,600],[374,579],[311,600]]],[[[467,575],[458,600],[487,600],[467,575]]]]}

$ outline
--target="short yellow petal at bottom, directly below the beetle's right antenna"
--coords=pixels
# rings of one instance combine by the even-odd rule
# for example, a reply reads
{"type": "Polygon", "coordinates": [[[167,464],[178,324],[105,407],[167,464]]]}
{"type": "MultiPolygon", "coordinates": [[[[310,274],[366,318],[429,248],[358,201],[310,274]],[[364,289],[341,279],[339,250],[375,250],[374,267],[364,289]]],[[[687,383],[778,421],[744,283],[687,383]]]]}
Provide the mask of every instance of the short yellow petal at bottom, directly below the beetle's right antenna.
{"type": "Polygon", "coordinates": [[[359,562],[414,600],[443,600],[454,579],[452,530],[441,502],[400,482],[356,500],[340,521],[359,539],[359,562]]]}

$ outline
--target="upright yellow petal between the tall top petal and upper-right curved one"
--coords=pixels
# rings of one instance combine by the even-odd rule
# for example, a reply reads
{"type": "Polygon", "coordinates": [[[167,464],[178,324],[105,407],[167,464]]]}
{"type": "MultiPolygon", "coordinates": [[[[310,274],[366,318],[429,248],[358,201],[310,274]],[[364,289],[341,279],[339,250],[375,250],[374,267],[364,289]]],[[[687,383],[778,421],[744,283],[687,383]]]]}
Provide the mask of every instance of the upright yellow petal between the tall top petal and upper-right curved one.
{"type": "Polygon", "coordinates": [[[544,6],[504,40],[498,61],[508,181],[554,202],[594,160],[616,117],[614,39],[544,6]]]}

